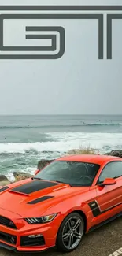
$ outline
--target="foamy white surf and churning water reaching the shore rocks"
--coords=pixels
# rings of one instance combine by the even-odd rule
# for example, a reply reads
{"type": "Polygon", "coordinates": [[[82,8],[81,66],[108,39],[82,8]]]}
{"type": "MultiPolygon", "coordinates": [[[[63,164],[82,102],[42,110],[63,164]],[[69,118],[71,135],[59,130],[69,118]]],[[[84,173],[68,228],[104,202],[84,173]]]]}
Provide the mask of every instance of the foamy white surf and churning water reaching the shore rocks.
{"type": "Polygon", "coordinates": [[[122,133],[50,132],[51,141],[0,143],[0,173],[14,180],[13,172],[33,174],[41,159],[55,159],[68,150],[91,147],[96,153],[122,149],[122,133]]]}

